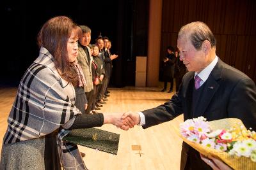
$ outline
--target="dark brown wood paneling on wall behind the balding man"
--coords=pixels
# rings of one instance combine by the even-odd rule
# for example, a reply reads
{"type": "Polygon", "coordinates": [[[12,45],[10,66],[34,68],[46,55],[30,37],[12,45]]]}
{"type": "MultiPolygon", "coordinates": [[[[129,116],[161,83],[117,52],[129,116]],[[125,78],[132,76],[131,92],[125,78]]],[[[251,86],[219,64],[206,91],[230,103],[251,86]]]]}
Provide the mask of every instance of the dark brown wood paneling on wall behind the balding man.
{"type": "Polygon", "coordinates": [[[221,60],[256,81],[256,1],[254,0],[163,0],[161,60],[168,45],[177,45],[182,25],[200,20],[217,39],[221,60]]]}

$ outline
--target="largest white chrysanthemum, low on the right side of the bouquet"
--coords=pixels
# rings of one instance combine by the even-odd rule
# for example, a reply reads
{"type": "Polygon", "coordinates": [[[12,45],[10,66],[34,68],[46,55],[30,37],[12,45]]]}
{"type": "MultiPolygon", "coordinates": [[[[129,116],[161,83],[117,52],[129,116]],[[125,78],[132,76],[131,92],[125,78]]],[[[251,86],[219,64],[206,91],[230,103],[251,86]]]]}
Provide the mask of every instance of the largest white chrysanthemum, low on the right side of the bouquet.
{"type": "Polygon", "coordinates": [[[243,142],[237,141],[234,145],[232,150],[230,150],[230,154],[236,154],[238,157],[244,156],[244,157],[250,157],[251,150],[250,148],[243,142]]]}

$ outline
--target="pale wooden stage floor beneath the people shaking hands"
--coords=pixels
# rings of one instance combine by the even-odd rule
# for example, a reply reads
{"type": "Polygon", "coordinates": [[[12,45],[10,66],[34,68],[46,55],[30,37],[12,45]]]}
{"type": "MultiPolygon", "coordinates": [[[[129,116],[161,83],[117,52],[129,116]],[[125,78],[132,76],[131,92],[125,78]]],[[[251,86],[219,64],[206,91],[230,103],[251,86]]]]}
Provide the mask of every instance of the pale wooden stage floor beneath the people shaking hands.
{"type": "MultiPolygon", "coordinates": [[[[104,104],[102,112],[115,113],[125,111],[143,111],[163,104],[172,97],[173,93],[160,92],[160,88],[124,87],[109,89],[110,97],[104,104]]],[[[7,117],[12,107],[17,88],[0,89],[0,150],[7,117]]],[[[86,153],[84,162],[88,169],[173,169],[180,167],[180,151],[182,140],[175,134],[173,125],[178,126],[183,116],[170,122],[156,125],[148,129],[136,126],[129,131],[122,131],[113,125],[103,125],[99,129],[120,134],[118,154],[112,155],[84,146],[79,146],[81,152],[86,153]],[[141,156],[132,150],[132,145],[141,146],[141,156]]]]}

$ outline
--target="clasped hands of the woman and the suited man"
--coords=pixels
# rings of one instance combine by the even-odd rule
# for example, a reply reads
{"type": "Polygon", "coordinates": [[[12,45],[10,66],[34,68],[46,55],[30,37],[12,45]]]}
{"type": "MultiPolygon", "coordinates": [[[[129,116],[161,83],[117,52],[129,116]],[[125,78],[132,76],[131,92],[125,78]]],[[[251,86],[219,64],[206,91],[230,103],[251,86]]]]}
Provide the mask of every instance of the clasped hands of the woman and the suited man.
{"type": "Polygon", "coordinates": [[[135,112],[125,112],[125,113],[104,113],[104,124],[113,124],[120,129],[125,131],[134,127],[134,125],[140,124],[140,115],[135,112]]]}

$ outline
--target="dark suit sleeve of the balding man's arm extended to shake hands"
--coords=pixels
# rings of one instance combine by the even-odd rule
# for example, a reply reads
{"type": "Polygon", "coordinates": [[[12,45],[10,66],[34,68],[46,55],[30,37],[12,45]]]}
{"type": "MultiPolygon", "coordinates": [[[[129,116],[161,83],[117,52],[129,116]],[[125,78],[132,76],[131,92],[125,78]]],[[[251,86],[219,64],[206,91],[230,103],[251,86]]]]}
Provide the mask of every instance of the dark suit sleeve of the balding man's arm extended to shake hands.
{"type": "Polygon", "coordinates": [[[156,108],[144,110],[142,113],[145,115],[146,120],[143,129],[172,120],[183,113],[179,94],[173,95],[172,99],[167,103],[157,106],[156,108]]]}

